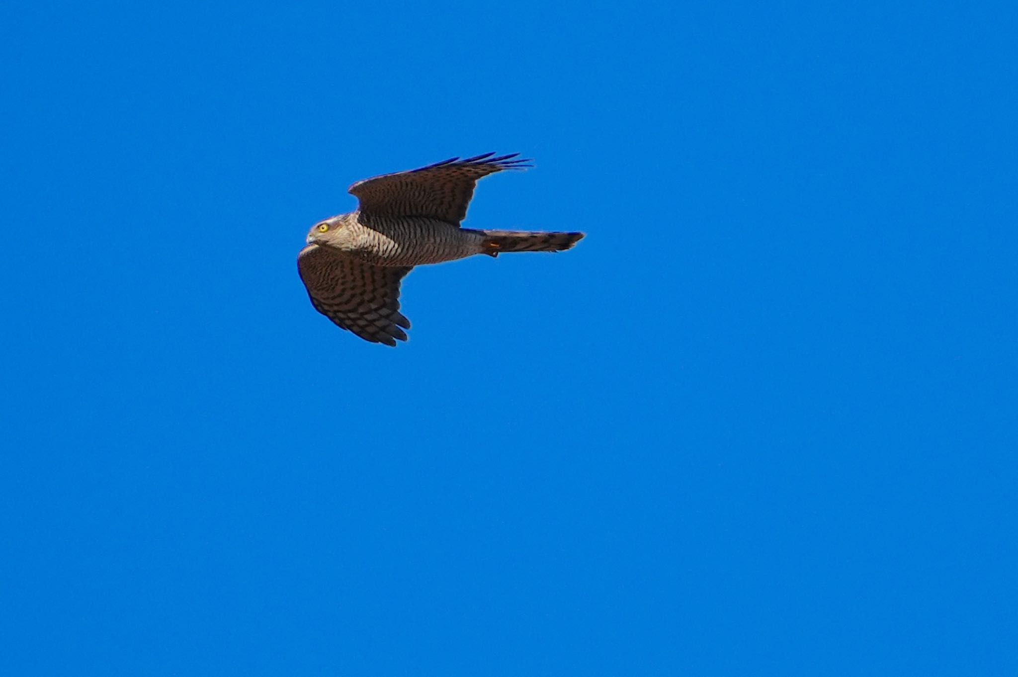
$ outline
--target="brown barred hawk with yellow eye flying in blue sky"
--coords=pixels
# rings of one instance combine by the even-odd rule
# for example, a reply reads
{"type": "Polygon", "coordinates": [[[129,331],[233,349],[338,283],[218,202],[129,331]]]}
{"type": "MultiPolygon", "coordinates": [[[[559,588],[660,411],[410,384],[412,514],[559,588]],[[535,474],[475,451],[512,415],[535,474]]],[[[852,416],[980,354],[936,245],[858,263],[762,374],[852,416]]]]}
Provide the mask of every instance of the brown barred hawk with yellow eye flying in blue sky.
{"type": "Polygon", "coordinates": [[[315,224],[297,257],[312,304],[360,338],[394,346],[410,328],[399,312],[399,285],[414,266],[572,247],[583,233],[460,227],[477,179],[531,166],[518,155],[452,158],[351,185],[358,209],[315,224]]]}

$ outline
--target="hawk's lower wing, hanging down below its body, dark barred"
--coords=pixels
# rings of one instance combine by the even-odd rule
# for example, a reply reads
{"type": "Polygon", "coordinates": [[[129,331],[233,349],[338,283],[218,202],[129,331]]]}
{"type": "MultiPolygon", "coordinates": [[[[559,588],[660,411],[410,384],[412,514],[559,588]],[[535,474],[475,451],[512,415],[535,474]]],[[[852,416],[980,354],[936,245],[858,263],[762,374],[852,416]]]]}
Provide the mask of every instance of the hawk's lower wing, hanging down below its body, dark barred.
{"type": "Polygon", "coordinates": [[[297,270],[315,308],[343,329],[373,343],[406,340],[410,321],[399,313],[399,284],[411,267],[372,266],[309,244],[297,257],[297,270]]]}

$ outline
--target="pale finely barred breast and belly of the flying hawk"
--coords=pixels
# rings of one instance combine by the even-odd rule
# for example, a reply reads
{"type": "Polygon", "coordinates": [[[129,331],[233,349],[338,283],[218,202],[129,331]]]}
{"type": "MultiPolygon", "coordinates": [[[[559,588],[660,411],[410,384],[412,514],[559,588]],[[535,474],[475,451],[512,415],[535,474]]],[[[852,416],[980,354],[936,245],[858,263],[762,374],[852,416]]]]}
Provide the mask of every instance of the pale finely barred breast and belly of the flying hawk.
{"type": "Polygon", "coordinates": [[[425,217],[357,214],[357,252],[377,266],[418,266],[463,259],[482,250],[484,235],[425,217]]]}

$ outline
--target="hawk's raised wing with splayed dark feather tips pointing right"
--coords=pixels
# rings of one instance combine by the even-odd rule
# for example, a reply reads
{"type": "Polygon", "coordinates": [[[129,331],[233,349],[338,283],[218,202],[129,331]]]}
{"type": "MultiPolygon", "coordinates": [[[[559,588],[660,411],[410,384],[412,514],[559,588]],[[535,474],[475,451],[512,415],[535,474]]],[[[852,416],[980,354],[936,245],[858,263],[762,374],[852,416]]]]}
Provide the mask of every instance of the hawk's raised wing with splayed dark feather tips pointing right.
{"type": "Polygon", "coordinates": [[[466,217],[477,179],[503,169],[530,167],[529,160],[513,160],[518,153],[493,158],[452,158],[420,169],[383,174],[357,181],[350,194],[360,201],[365,216],[425,216],[454,226],[466,217]]]}

